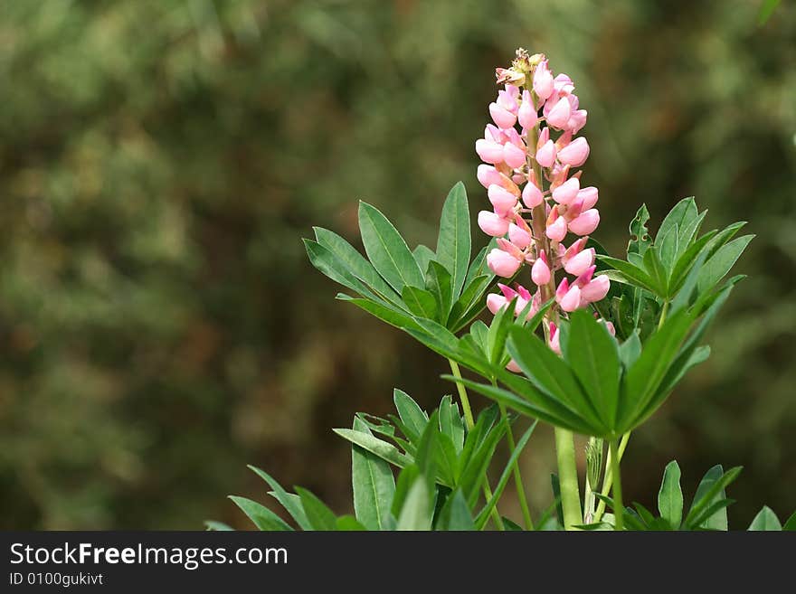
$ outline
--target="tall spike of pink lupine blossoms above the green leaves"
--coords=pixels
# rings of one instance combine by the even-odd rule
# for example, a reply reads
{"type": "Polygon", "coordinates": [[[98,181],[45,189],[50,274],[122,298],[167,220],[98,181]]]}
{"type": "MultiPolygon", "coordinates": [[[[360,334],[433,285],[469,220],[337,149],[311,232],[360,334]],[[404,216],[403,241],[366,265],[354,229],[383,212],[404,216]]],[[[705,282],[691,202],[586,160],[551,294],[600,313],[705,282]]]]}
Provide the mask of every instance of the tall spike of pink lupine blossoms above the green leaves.
{"type": "Polygon", "coordinates": [[[586,236],[600,222],[597,188],[582,187],[581,181],[591,148],[577,135],[588,114],[573,80],[554,76],[544,55],[519,51],[513,67],[497,69],[496,77],[505,87],[489,105],[494,124],[476,142],[485,163],[479,165],[479,182],[494,212],[479,212],[479,227],[497,238],[498,248],[487,256],[489,268],[510,278],[527,263],[536,289],[532,294],[521,285],[500,285],[501,293],[488,296],[487,306],[494,314],[516,299],[515,316],[529,303],[533,315],[543,296],[554,292],[556,305],[545,323],[550,347],[560,353],[559,328],[551,320],[604,298],[610,289],[607,277],[594,277],[596,254],[586,248],[586,236]],[[569,232],[581,239],[567,248],[569,232]]]}

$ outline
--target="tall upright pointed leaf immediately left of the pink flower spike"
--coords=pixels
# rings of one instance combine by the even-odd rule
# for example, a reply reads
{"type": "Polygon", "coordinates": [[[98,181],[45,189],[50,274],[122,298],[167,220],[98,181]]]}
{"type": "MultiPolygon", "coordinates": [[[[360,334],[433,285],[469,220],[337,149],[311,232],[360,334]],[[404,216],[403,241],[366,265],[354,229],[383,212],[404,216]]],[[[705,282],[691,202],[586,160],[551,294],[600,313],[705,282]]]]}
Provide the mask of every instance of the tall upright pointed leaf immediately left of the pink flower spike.
{"type": "Polygon", "coordinates": [[[470,256],[469,207],[467,191],[459,182],[450,189],[442,206],[440,235],[437,239],[437,261],[453,278],[453,295],[464,287],[470,256]]]}

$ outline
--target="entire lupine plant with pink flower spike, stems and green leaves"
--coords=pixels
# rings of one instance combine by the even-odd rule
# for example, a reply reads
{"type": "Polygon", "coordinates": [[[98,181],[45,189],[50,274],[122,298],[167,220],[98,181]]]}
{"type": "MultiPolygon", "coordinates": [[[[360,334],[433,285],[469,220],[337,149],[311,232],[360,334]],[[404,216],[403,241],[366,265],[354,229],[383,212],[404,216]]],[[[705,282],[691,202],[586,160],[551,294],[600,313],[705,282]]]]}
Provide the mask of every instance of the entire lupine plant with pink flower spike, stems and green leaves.
{"type": "MultiPolygon", "coordinates": [[[[333,231],[305,240],[315,268],[347,289],[338,299],[447,360],[458,402],[446,395],[427,413],[396,389],[396,414],[357,413],[351,428],[335,429],[351,443],[355,515],[337,516],[308,490],[289,493],[251,469],[303,530],[727,530],[725,489],[739,467],[710,468],[684,511],[672,461],[656,515],[625,505],[621,458],[631,432],[710,354],[706,330],[743,278],[727,277],[753,236],[736,237],[744,222],[703,231],[706,212],[686,198],[654,235],[642,205],[626,255],[610,256],[592,238],[599,193],[586,184],[588,114],[573,80],[521,49],[496,74],[491,122],[475,143],[489,204],[478,225],[491,239],[474,258],[461,183],[442,207],[434,250],[410,250],[368,203],[359,204],[365,255],[333,231]],[[493,403],[476,414],[468,390],[493,403]],[[519,416],[532,421],[516,438],[519,416]],[[558,472],[550,506],[534,519],[517,460],[538,422],[554,426],[558,472]],[[575,433],[588,438],[583,497],[575,433]],[[501,447],[507,463],[492,484],[501,447]],[[509,483],[521,522],[499,512],[509,483]]],[[[293,529],[262,504],[232,500],[261,530],[293,529]]],[[[796,530],[796,514],[782,525],[768,507],[749,526],[782,529],[796,530]]]]}

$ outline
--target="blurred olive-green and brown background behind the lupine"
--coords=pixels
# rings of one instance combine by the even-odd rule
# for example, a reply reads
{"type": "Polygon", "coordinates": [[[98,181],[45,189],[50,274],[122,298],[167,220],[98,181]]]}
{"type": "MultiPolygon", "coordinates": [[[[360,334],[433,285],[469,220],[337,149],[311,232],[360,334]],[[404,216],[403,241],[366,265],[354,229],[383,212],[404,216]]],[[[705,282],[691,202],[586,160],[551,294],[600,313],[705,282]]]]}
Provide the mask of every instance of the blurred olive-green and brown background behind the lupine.
{"type": "MultiPolygon", "coordinates": [[[[336,302],[300,238],[356,240],[362,198],[432,245],[457,180],[478,211],[473,144],[516,46],[575,80],[612,251],[640,203],[659,221],[692,194],[706,228],[757,233],[710,361],[630,442],[626,496],[651,504],[674,457],[690,495],[707,467],[743,465],[731,524],[785,517],[796,6],[763,27],[758,6],[0,3],[0,527],[244,527],[224,495],[265,500],[247,463],[345,512],[330,428],[391,410],[393,386],[431,407],[450,385],[336,302]]],[[[551,447],[541,431],[524,457],[536,510],[551,447]]]]}

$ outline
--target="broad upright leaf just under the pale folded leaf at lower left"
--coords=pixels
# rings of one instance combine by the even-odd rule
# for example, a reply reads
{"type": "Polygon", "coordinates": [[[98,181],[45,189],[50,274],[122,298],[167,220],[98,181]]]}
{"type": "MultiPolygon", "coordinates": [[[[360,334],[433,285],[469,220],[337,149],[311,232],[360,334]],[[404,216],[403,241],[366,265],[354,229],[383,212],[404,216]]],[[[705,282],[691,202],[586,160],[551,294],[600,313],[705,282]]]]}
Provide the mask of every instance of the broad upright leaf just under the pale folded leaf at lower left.
{"type": "MultiPolygon", "coordinates": [[[[370,433],[364,420],[354,419],[354,430],[370,433]]],[[[351,445],[351,480],[354,513],[368,530],[384,530],[395,494],[393,470],[384,459],[355,444],[351,445]]]]}

